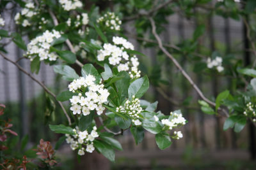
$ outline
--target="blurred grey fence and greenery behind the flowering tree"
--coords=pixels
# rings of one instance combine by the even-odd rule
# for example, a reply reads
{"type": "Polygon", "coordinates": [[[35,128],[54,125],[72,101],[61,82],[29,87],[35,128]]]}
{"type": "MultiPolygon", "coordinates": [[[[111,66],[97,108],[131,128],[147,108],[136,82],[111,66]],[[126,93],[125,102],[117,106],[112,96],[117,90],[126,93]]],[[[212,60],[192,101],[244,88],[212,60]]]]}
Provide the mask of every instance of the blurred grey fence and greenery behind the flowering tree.
{"type": "MultiPolygon", "coordinates": [[[[108,1],[98,4],[103,6],[101,10],[113,9],[113,5],[108,1]]],[[[17,10],[19,9],[13,8],[1,13],[6,23],[11,23],[12,27],[14,27],[13,16],[17,10]]],[[[185,18],[179,12],[172,12],[170,16],[166,16],[168,23],[164,24],[165,30],[161,37],[165,43],[168,43],[173,56],[179,60],[205,96],[214,101],[214,97],[219,92],[232,89],[232,80],[218,74],[202,72],[199,64],[191,64],[186,56],[175,51],[175,48],[186,45],[186,39],[192,38],[198,20],[205,25],[205,34],[198,43],[209,47],[198,48],[198,53],[219,52],[221,55],[231,53],[244,60],[248,55],[246,51],[248,40],[241,20],[216,15],[201,16],[204,10],[195,10],[195,13],[198,13],[196,18],[185,18]]],[[[197,103],[200,98],[188,81],[163,53],[157,53],[154,46],[141,41],[134,34],[136,31],[132,25],[134,25],[133,21],[125,22],[125,35],[136,46],[136,50],[148,56],[139,58],[140,69],[148,74],[151,83],[145,98],[152,103],[158,101],[157,110],[161,110],[166,115],[170,111],[181,109],[188,120],[188,124],[182,129],[184,137],[173,141],[170,148],[159,150],[153,134],[145,132],[145,139],[136,146],[131,132],[125,131],[123,136],[117,138],[124,151],[116,152],[115,164],[93,153],[86,154],[80,160],[79,166],[76,154],[66,143],[63,143],[56,153],[60,158],[60,169],[85,169],[84,167],[87,169],[255,169],[255,127],[247,125],[240,133],[232,129],[223,131],[225,118],[202,113],[197,103]]],[[[145,32],[145,35],[147,34],[148,32],[145,32]]],[[[18,60],[22,57],[22,51],[13,43],[3,43],[6,43],[10,59],[18,60]]],[[[19,64],[29,72],[29,60],[20,60],[19,64]]],[[[67,82],[61,80],[60,76],[54,73],[53,68],[44,63],[35,76],[54,94],[60,94],[67,89],[67,82]]],[[[58,104],[52,108],[54,104],[44,90],[3,58],[0,58],[0,82],[0,103],[6,104],[4,116],[12,118],[13,131],[19,134],[18,138],[21,139],[28,134],[28,147],[37,145],[41,138],[51,141],[54,145],[61,135],[51,132],[48,124],[51,122],[58,124],[61,120],[65,120],[58,104]]],[[[66,106],[68,108],[68,103],[66,106]]]]}

